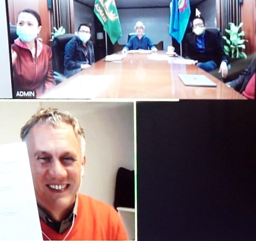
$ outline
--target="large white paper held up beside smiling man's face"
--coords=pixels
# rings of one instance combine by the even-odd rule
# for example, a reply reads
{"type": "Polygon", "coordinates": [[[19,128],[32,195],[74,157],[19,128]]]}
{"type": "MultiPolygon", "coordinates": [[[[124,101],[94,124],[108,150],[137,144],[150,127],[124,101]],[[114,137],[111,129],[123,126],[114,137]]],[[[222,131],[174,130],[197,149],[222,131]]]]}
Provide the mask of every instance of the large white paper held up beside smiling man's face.
{"type": "Polygon", "coordinates": [[[26,143],[0,152],[0,240],[43,240],[26,143]]]}

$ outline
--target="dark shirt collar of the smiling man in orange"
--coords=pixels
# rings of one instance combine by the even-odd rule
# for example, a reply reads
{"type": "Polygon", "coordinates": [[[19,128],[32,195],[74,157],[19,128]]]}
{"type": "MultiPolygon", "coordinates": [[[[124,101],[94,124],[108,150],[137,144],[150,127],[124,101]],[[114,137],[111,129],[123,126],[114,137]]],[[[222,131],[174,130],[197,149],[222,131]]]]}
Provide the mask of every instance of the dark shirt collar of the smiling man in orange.
{"type": "MultiPolygon", "coordinates": [[[[62,220],[61,222],[53,220],[53,218],[50,216],[50,214],[42,208],[42,206],[39,206],[37,204],[39,217],[44,220],[44,222],[54,229],[57,233],[62,234],[64,231],[66,231],[69,227],[72,225],[73,216],[77,216],[77,209],[78,209],[78,196],[76,196],[75,205],[73,208],[73,211],[70,213],[69,217],[65,220],[62,220]]],[[[74,217],[74,218],[75,218],[74,217]]]]}

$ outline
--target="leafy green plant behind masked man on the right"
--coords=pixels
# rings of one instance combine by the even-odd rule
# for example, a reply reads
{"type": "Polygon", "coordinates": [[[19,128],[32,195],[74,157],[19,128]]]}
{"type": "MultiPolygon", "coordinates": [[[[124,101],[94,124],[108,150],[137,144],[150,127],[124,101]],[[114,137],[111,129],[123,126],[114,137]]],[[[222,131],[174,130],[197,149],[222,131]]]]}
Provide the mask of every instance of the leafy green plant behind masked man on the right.
{"type": "Polygon", "coordinates": [[[222,36],[222,38],[226,41],[226,45],[224,45],[224,52],[230,58],[247,58],[247,55],[242,51],[245,49],[244,42],[248,42],[246,39],[242,39],[245,35],[244,31],[241,31],[243,23],[241,22],[239,25],[235,25],[234,23],[228,23],[229,29],[225,29],[228,33],[228,37],[222,36]]]}

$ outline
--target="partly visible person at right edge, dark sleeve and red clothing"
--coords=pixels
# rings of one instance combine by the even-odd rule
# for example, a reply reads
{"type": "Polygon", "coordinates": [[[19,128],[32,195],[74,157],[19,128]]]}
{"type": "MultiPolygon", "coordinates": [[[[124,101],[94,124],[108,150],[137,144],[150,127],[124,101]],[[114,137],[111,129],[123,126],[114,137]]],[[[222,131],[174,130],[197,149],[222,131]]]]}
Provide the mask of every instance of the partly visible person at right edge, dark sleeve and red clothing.
{"type": "Polygon", "coordinates": [[[249,67],[246,68],[236,80],[227,82],[226,84],[243,94],[248,99],[254,100],[255,97],[255,69],[256,56],[252,59],[249,67]]]}

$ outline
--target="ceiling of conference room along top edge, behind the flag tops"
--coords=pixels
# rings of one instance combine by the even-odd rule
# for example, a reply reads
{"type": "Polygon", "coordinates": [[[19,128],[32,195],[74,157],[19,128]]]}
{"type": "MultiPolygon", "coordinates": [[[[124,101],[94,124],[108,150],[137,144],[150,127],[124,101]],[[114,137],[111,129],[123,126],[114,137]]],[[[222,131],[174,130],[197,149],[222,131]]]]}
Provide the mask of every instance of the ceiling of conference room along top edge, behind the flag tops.
{"type": "MultiPolygon", "coordinates": [[[[95,0],[75,0],[93,7],[95,0]]],[[[197,5],[206,0],[190,0],[191,5],[197,5]]],[[[118,8],[141,8],[141,7],[169,7],[170,0],[115,0],[118,8]]]]}

